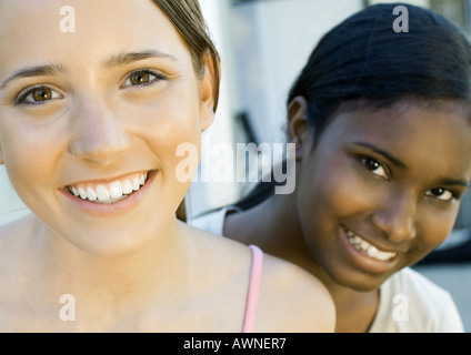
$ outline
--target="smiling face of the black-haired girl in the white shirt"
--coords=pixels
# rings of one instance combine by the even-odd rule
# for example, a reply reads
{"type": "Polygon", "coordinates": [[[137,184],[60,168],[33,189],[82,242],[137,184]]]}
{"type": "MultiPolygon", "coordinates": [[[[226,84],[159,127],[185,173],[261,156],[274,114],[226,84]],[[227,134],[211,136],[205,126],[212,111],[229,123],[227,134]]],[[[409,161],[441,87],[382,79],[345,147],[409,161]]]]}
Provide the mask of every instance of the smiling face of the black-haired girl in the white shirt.
{"type": "Polygon", "coordinates": [[[311,146],[302,151],[298,211],[311,253],[333,282],[373,290],[451,232],[471,179],[462,106],[402,101],[342,112],[311,146]]]}

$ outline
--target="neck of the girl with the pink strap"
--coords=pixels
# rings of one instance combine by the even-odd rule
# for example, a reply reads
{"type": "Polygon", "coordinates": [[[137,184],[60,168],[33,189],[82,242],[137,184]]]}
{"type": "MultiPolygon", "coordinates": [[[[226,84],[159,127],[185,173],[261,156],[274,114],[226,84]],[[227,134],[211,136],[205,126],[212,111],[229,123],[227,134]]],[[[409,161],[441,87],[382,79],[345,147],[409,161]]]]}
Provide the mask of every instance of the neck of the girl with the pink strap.
{"type": "Polygon", "coordinates": [[[156,302],[171,294],[166,287],[187,270],[186,236],[177,221],[136,254],[116,258],[87,253],[39,220],[36,223],[34,255],[41,258],[36,264],[46,266],[34,273],[48,286],[44,293],[71,294],[88,304],[120,302],[132,308],[147,298],[156,302]]]}

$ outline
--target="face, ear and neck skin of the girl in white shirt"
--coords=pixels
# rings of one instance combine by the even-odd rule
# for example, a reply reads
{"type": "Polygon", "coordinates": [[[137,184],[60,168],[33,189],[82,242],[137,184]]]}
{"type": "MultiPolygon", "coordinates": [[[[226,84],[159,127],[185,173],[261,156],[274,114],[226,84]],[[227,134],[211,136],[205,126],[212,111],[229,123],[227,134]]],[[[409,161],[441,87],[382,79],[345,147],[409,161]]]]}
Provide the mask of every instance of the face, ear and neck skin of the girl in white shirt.
{"type": "Polygon", "coordinates": [[[335,331],[367,332],[380,285],[453,227],[471,181],[469,111],[414,100],[340,111],[314,142],[307,108],[301,97],[289,108],[295,192],[229,214],[224,233],[317,275],[334,298],[335,331]],[[362,251],[355,236],[368,243],[362,251]]]}

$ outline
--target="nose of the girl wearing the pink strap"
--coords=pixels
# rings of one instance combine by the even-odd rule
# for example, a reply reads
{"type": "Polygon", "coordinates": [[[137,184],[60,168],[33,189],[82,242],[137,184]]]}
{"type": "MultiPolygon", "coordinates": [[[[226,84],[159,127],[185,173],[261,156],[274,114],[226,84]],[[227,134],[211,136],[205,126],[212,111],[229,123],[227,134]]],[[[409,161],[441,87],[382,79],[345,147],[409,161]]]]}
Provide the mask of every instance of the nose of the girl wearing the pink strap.
{"type": "Polygon", "coordinates": [[[77,159],[109,165],[128,149],[128,131],[104,101],[78,104],[71,126],[69,152],[77,159]]]}

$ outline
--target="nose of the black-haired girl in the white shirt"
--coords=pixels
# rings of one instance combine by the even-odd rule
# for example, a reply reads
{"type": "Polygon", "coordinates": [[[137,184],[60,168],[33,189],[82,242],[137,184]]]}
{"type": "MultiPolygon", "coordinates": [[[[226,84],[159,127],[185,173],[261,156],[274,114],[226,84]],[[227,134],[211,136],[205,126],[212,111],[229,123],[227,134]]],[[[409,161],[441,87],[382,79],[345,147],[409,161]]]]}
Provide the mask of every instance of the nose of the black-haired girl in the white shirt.
{"type": "Polygon", "coordinates": [[[392,192],[371,214],[371,221],[391,242],[415,237],[417,200],[409,192],[392,192]]]}

